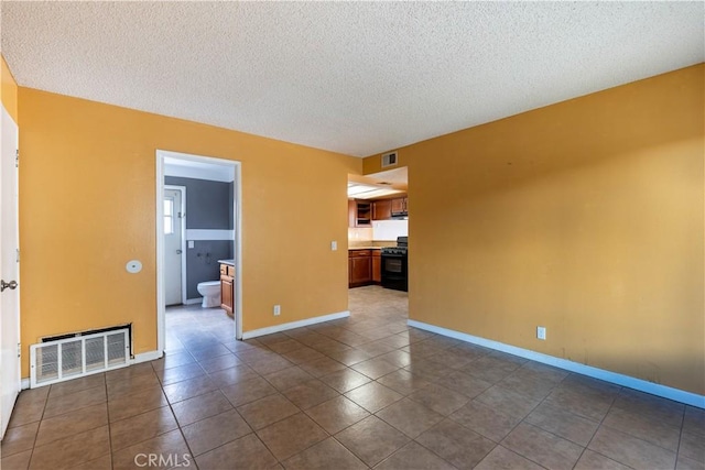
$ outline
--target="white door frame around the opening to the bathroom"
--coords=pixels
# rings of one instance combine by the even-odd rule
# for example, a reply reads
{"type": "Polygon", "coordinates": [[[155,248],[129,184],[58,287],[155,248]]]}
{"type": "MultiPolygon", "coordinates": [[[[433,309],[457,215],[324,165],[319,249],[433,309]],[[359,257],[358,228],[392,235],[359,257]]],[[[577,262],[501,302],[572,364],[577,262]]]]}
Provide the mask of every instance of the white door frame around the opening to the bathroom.
{"type": "Polygon", "coordinates": [[[166,157],[191,162],[209,163],[220,166],[231,166],[234,171],[232,184],[232,255],[235,258],[235,331],[236,339],[242,339],[242,172],[241,163],[234,160],[213,156],[193,155],[181,152],[156,149],[156,346],[160,354],[166,347],[166,307],[164,305],[164,160],[166,157]]]}

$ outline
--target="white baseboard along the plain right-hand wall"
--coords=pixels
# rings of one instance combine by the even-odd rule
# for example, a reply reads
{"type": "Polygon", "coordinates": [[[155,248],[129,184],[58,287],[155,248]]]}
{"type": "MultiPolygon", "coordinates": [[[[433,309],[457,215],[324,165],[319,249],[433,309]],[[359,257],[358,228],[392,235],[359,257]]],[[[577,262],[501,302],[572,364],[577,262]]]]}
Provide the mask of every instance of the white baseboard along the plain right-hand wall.
{"type": "Polygon", "coordinates": [[[520,358],[530,359],[532,361],[553,365],[566,371],[604,380],[605,382],[610,382],[617,385],[638,390],[640,392],[662,396],[664,398],[673,400],[674,402],[681,402],[691,406],[696,406],[698,408],[705,408],[705,396],[698,395],[696,393],[686,392],[680,389],[673,389],[671,386],[661,385],[617,372],[606,371],[604,369],[594,368],[592,365],[581,364],[579,362],[568,361],[567,359],[556,358],[541,352],[531,351],[529,349],[518,348],[516,346],[506,345],[503,342],[494,341],[491,339],[480,338],[478,336],[437,327],[435,325],[424,324],[423,321],[408,320],[408,325],[410,327],[447,336],[448,338],[459,339],[460,341],[471,342],[474,345],[484,346],[485,348],[495,349],[497,351],[507,352],[513,356],[519,356],[520,358]]]}

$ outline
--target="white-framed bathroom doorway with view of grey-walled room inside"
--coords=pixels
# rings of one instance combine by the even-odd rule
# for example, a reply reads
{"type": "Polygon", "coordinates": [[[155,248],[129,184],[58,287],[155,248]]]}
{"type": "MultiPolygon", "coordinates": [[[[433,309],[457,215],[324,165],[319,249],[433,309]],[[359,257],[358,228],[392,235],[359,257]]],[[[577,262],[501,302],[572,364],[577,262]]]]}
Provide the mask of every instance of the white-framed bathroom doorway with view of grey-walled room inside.
{"type": "MultiPolygon", "coordinates": [[[[174,339],[180,330],[187,331],[192,339],[194,331],[203,331],[204,342],[207,342],[207,337],[213,336],[219,339],[224,339],[224,336],[230,339],[241,338],[240,188],[239,162],[156,151],[156,298],[160,351],[174,349],[170,346],[177,342],[174,339]],[[182,190],[172,192],[172,188],[182,190]],[[176,234],[180,222],[183,236],[178,242],[178,237],[170,239],[170,236],[176,234]],[[235,269],[232,319],[219,307],[202,307],[204,284],[219,284],[221,260],[231,261],[235,269]],[[178,264],[182,270],[177,274],[178,264]],[[175,293],[177,284],[181,285],[180,294],[175,293]],[[227,318],[224,321],[221,317],[227,318]]],[[[210,298],[208,295],[205,297],[210,298]]],[[[203,303],[206,304],[208,303],[203,303]]]]}

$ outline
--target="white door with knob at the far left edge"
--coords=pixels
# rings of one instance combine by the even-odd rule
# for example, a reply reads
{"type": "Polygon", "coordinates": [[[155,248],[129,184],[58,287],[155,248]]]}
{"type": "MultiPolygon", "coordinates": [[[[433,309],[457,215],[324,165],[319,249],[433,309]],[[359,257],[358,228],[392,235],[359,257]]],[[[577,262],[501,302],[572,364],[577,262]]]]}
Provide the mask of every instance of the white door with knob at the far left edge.
{"type": "Polygon", "coordinates": [[[18,287],[18,124],[4,107],[0,117],[0,438],[20,393],[20,295],[18,287]]]}

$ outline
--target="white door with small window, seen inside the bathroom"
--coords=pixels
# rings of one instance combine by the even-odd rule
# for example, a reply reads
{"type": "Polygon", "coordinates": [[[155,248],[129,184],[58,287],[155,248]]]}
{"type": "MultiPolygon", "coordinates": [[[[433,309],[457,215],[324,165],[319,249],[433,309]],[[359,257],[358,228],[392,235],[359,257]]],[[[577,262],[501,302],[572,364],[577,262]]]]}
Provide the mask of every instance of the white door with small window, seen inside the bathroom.
{"type": "Polygon", "coordinates": [[[166,305],[182,303],[182,195],[164,189],[164,291],[166,305]]]}

